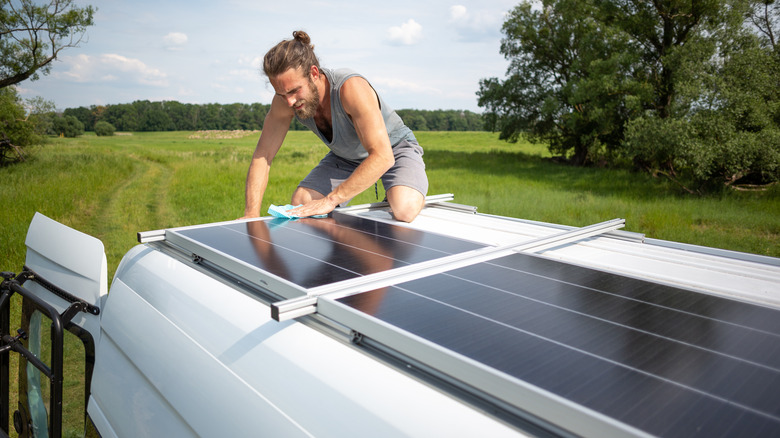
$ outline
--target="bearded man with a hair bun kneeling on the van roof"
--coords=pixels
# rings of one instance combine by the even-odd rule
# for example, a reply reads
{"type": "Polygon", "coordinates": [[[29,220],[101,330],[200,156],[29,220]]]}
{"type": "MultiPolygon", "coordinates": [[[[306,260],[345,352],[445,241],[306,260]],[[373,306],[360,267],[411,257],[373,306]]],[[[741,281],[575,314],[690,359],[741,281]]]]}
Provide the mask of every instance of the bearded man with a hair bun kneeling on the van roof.
{"type": "Polygon", "coordinates": [[[271,162],[297,117],[331,151],[293,193],[291,203],[303,205],[288,213],[329,213],[381,178],[395,219],[414,220],[428,190],[422,148],[365,78],[320,68],[303,31],[272,48],[263,70],[276,94],[249,166],[245,218],[259,216],[271,162]]]}

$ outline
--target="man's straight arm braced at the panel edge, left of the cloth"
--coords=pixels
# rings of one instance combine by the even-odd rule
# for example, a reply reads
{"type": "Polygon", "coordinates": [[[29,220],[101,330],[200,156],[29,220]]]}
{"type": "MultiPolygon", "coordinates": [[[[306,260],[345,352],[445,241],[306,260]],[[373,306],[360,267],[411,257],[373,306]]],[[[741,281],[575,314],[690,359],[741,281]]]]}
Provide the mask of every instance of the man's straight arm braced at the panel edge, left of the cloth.
{"type": "Polygon", "coordinates": [[[265,189],[268,187],[271,162],[284,142],[292,118],[293,110],[287,106],[283,98],[274,96],[246,175],[244,216],[241,219],[260,216],[260,205],[263,202],[265,189]]]}

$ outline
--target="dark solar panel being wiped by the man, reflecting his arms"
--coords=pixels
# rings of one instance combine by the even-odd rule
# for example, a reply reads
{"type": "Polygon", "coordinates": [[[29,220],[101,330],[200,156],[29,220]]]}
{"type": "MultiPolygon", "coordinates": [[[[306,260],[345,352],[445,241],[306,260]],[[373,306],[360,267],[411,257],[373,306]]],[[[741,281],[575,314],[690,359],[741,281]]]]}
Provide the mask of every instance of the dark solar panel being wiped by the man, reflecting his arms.
{"type": "Polygon", "coordinates": [[[226,223],[172,233],[185,237],[176,242],[187,244],[196,254],[199,247],[216,250],[307,289],[483,246],[343,214],[226,223]]]}

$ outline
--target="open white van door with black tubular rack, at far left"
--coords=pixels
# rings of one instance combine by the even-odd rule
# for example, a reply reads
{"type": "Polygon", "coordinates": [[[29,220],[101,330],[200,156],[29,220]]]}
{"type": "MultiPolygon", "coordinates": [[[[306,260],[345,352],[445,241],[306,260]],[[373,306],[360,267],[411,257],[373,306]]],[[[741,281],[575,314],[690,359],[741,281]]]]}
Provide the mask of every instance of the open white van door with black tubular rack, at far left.
{"type": "Polygon", "coordinates": [[[25,244],[23,271],[4,272],[0,287],[0,429],[8,433],[13,411],[20,437],[89,435],[86,407],[108,293],[103,243],[36,213],[25,244]],[[12,315],[20,317],[13,332],[12,315]],[[12,352],[19,354],[15,407],[12,352]]]}

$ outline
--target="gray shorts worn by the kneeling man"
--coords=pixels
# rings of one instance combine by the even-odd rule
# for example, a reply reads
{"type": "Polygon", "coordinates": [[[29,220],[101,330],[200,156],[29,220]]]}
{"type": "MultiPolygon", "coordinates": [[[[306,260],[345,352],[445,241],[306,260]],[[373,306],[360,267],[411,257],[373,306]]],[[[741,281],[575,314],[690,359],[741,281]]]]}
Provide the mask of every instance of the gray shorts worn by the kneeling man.
{"type": "MultiPolygon", "coordinates": [[[[395,164],[381,178],[385,191],[394,186],[407,186],[425,196],[428,193],[428,176],[425,174],[422,147],[417,142],[403,140],[393,147],[393,155],[395,164]]],[[[326,196],[349,178],[359,165],[360,162],[345,160],[328,152],[298,187],[316,190],[326,196]]]]}

